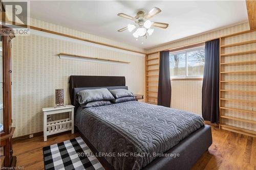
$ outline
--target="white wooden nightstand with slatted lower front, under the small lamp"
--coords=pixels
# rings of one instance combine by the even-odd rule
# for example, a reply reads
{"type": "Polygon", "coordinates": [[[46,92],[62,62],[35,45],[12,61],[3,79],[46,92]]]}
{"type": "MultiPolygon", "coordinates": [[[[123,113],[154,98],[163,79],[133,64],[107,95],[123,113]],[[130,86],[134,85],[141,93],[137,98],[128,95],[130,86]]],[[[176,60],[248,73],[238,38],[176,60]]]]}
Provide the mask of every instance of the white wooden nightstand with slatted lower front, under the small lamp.
{"type": "Polygon", "coordinates": [[[47,136],[71,130],[74,133],[74,107],[73,105],[42,108],[44,114],[44,141],[47,136]],[[47,122],[47,115],[69,112],[69,118],[47,122]]]}

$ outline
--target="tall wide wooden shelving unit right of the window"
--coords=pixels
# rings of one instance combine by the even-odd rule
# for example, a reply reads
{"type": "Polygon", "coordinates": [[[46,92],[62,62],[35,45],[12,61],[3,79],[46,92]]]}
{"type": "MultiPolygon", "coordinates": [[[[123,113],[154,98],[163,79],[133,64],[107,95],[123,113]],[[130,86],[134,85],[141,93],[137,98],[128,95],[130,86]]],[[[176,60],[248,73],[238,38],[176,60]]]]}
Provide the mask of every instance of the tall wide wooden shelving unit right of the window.
{"type": "MultiPolygon", "coordinates": [[[[236,43],[226,43],[228,38],[236,39],[236,36],[251,37],[246,34],[250,34],[253,31],[241,32],[232,34],[229,36],[220,38],[220,128],[253,136],[256,137],[256,131],[249,130],[247,127],[254,127],[256,124],[255,119],[253,119],[256,115],[256,100],[254,95],[256,94],[256,90],[252,91],[251,88],[247,88],[248,86],[252,86],[255,89],[256,81],[254,77],[256,77],[256,69],[249,69],[247,65],[255,64],[256,67],[256,58],[247,57],[250,54],[256,54],[256,49],[250,49],[249,51],[236,52],[232,53],[232,51],[227,52],[227,48],[229,50],[233,50],[232,47],[237,49],[240,45],[244,45],[243,47],[247,47],[246,45],[256,43],[256,40],[250,40],[236,43]],[[231,62],[227,62],[226,57],[232,57],[231,62]],[[237,61],[236,61],[237,60],[237,61]],[[237,67],[238,66],[238,67],[237,67]],[[243,67],[244,66],[244,67],[243,67]],[[229,67],[229,69],[227,69],[229,67]],[[241,70],[243,68],[243,70],[241,70]],[[248,69],[248,70],[246,70],[248,69]],[[228,71],[226,71],[228,70],[228,71]],[[230,76],[237,76],[235,79],[230,80],[230,76]],[[250,76],[253,77],[250,79],[250,76]],[[243,80],[241,80],[241,78],[243,80]],[[227,86],[228,85],[228,86],[227,86]],[[232,88],[234,86],[234,88],[232,88]],[[238,88],[241,87],[241,88],[238,88]],[[242,88],[243,87],[243,88],[242,88]],[[234,90],[236,89],[236,90],[234,90]],[[233,96],[236,95],[236,97],[233,96]],[[240,98],[241,96],[241,98],[240,98]],[[243,98],[244,96],[248,96],[248,98],[243,98]],[[236,99],[234,99],[236,98],[236,99]],[[245,100],[246,99],[246,100],[245,100]],[[246,109],[240,109],[246,108],[246,109]],[[228,114],[227,114],[228,113],[228,114]],[[248,116],[250,119],[248,119],[248,116]],[[251,119],[252,117],[252,119],[251,119]],[[246,124],[246,126],[241,125],[246,124]],[[248,125],[247,125],[248,124],[248,125]],[[241,128],[243,127],[243,128],[241,128]],[[246,127],[246,128],[245,128],[246,127]]],[[[237,38],[239,40],[239,38],[237,38]]],[[[241,39],[241,38],[240,38],[241,39]]],[[[251,67],[250,67],[251,68],[251,67]]],[[[252,67],[253,68],[253,67],[252,67]]]]}

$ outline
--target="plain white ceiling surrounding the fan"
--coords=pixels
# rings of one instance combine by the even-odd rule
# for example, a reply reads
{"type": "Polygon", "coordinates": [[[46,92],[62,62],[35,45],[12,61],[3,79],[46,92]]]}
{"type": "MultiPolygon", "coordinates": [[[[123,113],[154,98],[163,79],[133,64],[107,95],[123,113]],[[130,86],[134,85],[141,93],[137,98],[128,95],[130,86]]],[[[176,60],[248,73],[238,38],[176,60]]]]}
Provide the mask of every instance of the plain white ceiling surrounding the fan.
{"type": "Polygon", "coordinates": [[[248,20],[245,1],[30,1],[30,15],[142,48],[248,20]],[[169,23],[167,29],[155,28],[147,40],[138,41],[127,30],[117,32],[133,23],[118,13],[135,16],[139,10],[147,12],[153,7],[162,12],[151,20],[169,23]]]}

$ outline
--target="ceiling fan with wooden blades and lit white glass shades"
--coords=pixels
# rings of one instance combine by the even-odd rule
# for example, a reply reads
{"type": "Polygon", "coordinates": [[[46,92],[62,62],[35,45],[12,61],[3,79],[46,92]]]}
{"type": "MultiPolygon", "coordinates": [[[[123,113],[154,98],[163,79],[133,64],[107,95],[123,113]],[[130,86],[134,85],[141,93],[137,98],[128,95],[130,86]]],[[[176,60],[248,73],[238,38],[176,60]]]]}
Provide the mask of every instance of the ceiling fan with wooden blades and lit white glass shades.
{"type": "Polygon", "coordinates": [[[122,32],[127,29],[129,32],[132,32],[137,28],[136,31],[133,33],[133,36],[135,38],[138,38],[139,36],[147,37],[147,35],[152,35],[152,33],[154,32],[154,29],[151,29],[152,26],[166,29],[169,26],[168,23],[152,22],[149,20],[150,18],[152,18],[153,16],[155,16],[156,14],[158,14],[160,12],[161,12],[161,10],[159,8],[154,7],[148,13],[145,13],[144,11],[139,11],[135,17],[126,15],[124,13],[119,13],[119,14],[117,14],[118,16],[121,16],[121,17],[124,17],[127,19],[131,19],[135,23],[129,24],[127,27],[124,27],[124,28],[118,30],[118,32],[122,32]]]}

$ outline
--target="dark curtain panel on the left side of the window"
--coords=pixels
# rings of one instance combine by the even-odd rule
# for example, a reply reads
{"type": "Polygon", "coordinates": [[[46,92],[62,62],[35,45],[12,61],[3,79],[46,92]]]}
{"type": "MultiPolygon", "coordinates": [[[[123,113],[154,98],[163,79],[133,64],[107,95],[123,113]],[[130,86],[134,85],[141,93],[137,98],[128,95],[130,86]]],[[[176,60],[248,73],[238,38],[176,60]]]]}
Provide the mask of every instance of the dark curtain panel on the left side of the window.
{"type": "Polygon", "coordinates": [[[157,105],[170,107],[170,66],[169,51],[160,52],[157,105]]]}

